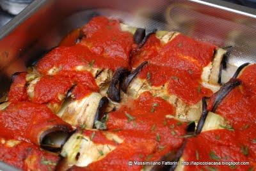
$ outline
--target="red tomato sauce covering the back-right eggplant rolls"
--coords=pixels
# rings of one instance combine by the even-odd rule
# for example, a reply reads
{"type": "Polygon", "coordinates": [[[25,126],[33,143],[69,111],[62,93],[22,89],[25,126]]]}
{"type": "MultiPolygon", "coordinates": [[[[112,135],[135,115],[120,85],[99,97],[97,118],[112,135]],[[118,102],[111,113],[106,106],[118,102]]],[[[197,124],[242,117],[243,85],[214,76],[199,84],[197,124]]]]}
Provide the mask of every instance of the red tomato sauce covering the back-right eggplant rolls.
{"type": "Polygon", "coordinates": [[[132,56],[132,67],[148,61],[139,77],[147,79],[150,85],[161,86],[168,83],[168,92],[175,94],[189,104],[195,104],[203,96],[211,96],[212,91],[200,82],[202,69],[212,60],[213,45],[195,41],[179,34],[163,45],[155,35],[151,35],[143,48],[132,56]]]}

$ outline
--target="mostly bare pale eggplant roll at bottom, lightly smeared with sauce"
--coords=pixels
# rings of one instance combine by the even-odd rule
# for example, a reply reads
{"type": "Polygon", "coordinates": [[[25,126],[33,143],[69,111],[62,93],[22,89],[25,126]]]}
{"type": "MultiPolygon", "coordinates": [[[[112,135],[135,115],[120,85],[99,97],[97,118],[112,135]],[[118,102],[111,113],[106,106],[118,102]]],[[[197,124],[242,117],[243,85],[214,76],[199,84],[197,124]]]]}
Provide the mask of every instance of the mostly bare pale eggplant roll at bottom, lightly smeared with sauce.
{"type": "Polygon", "coordinates": [[[124,140],[108,131],[77,130],[63,146],[59,168],[67,170],[76,165],[87,167],[90,163],[102,160],[124,140]]]}

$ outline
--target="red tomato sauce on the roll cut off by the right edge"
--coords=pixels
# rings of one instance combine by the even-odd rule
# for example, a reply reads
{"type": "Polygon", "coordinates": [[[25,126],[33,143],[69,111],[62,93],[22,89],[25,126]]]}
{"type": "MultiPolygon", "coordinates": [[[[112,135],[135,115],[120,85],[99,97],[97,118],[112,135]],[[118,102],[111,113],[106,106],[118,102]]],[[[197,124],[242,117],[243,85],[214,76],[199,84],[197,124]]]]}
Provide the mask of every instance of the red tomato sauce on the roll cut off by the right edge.
{"type": "MultiPolygon", "coordinates": [[[[246,67],[239,80],[241,85],[235,87],[220,102],[216,110],[217,114],[222,115],[230,121],[235,130],[243,128],[246,124],[255,125],[256,118],[256,87],[255,87],[256,64],[246,67]]],[[[208,110],[211,110],[216,94],[212,96],[208,110]]]]}

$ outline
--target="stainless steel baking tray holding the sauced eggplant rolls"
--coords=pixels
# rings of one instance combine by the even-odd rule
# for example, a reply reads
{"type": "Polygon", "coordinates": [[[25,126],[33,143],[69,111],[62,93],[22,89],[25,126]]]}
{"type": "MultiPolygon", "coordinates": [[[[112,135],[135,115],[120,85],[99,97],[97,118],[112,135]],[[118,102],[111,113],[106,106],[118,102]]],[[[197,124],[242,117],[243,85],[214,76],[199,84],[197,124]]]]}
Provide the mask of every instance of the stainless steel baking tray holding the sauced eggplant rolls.
{"type": "Polygon", "coordinates": [[[0,30],[0,101],[12,73],[26,70],[98,14],[131,26],[180,31],[220,47],[232,45],[224,81],[240,64],[256,62],[256,11],[251,8],[217,0],[36,0],[0,30]]]}

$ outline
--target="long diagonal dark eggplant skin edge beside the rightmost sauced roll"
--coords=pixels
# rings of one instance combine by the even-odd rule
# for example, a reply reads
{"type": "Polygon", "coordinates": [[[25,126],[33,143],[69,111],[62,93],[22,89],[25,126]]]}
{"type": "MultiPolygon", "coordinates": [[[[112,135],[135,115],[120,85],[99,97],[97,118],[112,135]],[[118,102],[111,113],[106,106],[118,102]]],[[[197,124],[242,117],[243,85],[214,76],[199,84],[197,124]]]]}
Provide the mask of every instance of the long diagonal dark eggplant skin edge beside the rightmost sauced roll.
{"type": "Polygon", "coordinates": [[[236,86],[240,85],[241,81],[237,78],[231,78],[220,90],[217,92],[216,98],[213,102],[211,112],[215,112],[220,105],[221,101],[227,96],[227,94],[232,91],[236,86]]]}

